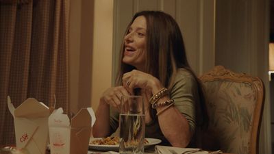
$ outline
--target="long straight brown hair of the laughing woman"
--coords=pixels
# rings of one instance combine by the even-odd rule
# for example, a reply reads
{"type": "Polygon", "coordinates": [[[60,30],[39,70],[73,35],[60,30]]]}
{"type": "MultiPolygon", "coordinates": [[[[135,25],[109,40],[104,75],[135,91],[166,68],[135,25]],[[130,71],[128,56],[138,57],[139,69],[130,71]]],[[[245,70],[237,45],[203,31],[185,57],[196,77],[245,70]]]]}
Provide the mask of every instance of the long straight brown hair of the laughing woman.
{"type": "MultiPolygon", "coordinates": [[[[129,23],[127,31],[138,16],[145,16],[147,22],[147,52],[145,53],[145,73],[149,73],[157,77],[164,87],[171,90],[171,86],[175,80],[178,68],[185,68],[193,77],[195,77],[198,85],[199,101],[203,122],[208,121],[206,112],[205,99],[199,79],[190,68],[186,58],[184,40],[177,22],[172,16],[160,11],[142,11],[137,12],[132,21],[129,23]]],[[[133,69],[134,66],[123,63],[123,51],[125,51],[124,42],[120,53],[120,70],[116,77],[116,85],[121,85],[124,73],[133,69]]],[[[155,110],[151,109],[151,117],[157,120],[155,110]]]]}

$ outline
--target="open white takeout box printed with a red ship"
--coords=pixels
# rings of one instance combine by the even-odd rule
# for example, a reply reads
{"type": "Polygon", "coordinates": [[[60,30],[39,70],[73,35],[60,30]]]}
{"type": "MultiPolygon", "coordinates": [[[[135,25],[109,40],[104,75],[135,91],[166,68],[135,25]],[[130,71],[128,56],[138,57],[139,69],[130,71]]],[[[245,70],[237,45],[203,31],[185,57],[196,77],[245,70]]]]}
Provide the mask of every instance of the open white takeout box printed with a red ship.
{"type": "Polygon", "coordinates": [[[58,110],[54,110],[51,116],[49,116],[51,153],[88,153],[90,132],[92,124],[95,122],[95,115],[92,108],[83,108],[71,118],[71,122],[69,117],[62,113],[62,108],[59,108],[58,110]]]}

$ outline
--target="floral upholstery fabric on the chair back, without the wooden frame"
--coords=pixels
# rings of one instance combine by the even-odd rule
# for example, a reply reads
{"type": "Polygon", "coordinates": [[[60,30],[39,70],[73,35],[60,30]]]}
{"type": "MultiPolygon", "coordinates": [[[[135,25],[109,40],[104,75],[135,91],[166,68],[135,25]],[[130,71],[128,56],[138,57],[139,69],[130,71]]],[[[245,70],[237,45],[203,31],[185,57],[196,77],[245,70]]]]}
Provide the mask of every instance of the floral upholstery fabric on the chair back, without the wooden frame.
{"type": "Polygon", "coordinates": [[[250,153],[256,90],[250,83],[234,81],[203,82],[210,118],[208,146],[227,153],[250,153]]]}

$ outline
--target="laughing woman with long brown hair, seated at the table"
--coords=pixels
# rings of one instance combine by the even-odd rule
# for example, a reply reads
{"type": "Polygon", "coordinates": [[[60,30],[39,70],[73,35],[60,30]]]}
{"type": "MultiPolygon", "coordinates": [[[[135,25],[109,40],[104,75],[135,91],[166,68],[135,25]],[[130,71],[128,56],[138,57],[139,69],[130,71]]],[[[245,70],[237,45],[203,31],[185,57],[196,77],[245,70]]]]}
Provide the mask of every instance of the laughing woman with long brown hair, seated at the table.
{"type": "Polygon", "coordinates": [[[117,86],[101,96],[93,136],[110,136],[119,125],[121,97],[138,92],[145,98],[146,138],[193,146],[190,141],[197,125],[207,118],[206,108],[176,21],[164,12],[138,12],[123,40],[117,86]],[[160,97],[155,98],[156,94],[160,97]]]}

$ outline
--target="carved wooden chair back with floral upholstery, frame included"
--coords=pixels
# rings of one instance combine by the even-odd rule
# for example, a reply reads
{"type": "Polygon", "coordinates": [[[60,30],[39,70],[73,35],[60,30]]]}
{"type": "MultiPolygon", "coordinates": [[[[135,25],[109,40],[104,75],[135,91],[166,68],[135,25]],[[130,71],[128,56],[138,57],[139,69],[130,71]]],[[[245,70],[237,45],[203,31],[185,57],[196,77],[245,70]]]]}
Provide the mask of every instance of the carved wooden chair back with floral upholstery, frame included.
{"type": "Polygon", "coordinates": [[[258,77],[223,66],[199,77],[210,118],[202,148],[226,153],[256,154],[264,106],[264,84],[258,77]]]}

